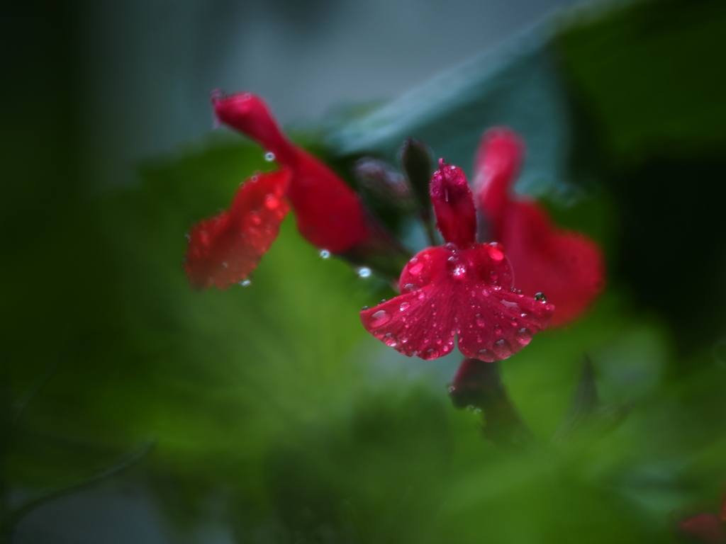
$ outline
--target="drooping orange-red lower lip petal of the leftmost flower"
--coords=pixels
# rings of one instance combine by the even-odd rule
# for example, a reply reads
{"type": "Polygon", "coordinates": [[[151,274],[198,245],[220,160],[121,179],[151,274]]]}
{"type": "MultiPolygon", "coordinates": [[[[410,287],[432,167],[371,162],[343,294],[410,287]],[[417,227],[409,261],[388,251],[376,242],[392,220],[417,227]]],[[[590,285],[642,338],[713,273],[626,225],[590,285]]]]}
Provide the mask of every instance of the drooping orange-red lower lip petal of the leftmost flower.
{"type": "Polygon", "coordinates": [[[257,267],[290,210],[282,199],[289,180],[288,170],[253,176],[228,211],[192,227],[184,263],[192,287],[226,289],[257,267]]]}

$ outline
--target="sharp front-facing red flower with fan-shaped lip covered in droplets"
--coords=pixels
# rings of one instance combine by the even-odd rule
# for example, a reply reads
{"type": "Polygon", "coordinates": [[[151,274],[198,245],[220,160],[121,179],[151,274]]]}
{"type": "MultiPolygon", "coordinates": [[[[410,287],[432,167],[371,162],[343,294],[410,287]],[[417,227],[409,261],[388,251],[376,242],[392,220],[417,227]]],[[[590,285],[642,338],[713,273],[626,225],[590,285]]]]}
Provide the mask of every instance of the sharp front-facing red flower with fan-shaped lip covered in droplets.
{"type": "Polygon", "coordinates": [[[492,362],[518,352],[544,329],[554,306],[513,288],[500,244],[476,243],[473,195],[460,168],[440,163],[431,181],[437,228],[448,242],[413,257],[401,272],[401,294],[364,308],[367,331],[409,357],[459,350],[492,362]]]}

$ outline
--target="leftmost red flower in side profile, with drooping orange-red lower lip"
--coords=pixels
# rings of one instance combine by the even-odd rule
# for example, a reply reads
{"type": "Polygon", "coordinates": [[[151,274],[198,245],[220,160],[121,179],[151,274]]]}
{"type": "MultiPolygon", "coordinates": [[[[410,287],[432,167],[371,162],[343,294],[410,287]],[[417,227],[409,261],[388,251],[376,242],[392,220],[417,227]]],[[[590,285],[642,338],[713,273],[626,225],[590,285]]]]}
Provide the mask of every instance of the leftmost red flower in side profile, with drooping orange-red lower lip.
{"type": "Polygon", "coordinates": [[[287,140],[258,96],[214,95],[212,104],[222,123],[256,140],[283,168],[253,177],[228,211],[192,228],[184,265],[192,286],[224,289],[245,279],[277,238],[289,210],[282,197],[295,209],[298,229],[311,244],[340,254],[370,242],[359,197],[330,168],[287,140]]]}

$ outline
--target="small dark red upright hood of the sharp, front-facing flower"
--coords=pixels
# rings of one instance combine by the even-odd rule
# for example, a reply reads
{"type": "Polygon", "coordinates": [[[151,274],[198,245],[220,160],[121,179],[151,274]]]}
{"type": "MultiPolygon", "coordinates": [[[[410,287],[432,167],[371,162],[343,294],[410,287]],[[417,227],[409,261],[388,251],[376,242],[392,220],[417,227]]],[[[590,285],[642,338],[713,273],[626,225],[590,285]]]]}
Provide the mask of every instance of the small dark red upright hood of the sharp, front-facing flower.
{"type": "Polygon", "coordinates": [[[470,247],[476,239],[474,197],[461,168],[439,160],[439,170],[431,178],[431,202],[436,212],[436,228],[446,242],[470,247]]]}

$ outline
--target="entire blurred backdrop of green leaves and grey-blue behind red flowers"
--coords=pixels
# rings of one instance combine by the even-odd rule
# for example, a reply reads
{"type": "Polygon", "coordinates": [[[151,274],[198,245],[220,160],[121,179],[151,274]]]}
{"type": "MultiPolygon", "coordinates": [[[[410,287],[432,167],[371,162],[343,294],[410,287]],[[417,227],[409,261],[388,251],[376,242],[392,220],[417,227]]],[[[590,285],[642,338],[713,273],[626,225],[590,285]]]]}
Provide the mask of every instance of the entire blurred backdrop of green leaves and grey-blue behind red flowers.
{"type": "Polygon", "coordinates": [[[12,542],[643,543],[715,511],[726,8],[574,4],[3,7],[0,528],[94,479],[28,510],[12,542]],[[252,286],[188,287],[184,233],[271,168],[211,132],[213,88],[264,96],[344,174],[394,162],[407,136],[469,169],[489,126],[523,134],[518,190],[609,269],[588,316],[503,366],[535,453],[452,407],[456,356],[368,337],[357,311],[391,291],[321,260],[289,218],[252,286]],[[632,411],[587,448],[553,446],[586,353],[601,397],[632,411]]]}

